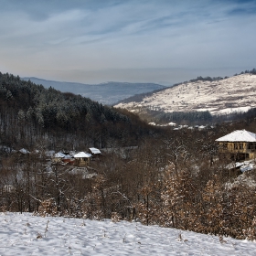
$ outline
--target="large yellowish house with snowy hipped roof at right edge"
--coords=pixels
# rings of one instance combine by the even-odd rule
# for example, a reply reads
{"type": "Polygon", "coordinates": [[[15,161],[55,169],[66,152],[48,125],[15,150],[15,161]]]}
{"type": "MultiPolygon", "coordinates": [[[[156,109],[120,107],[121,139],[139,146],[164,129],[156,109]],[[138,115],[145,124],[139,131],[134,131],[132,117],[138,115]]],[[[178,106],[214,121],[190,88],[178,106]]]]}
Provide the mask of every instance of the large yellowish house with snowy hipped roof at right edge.
{"type": "Polygon", "coordinates": [[[253,159],[256,156],[256,134],[237,130],[216,140],[219,153],[229,153],[235,159],[253,159]]]}

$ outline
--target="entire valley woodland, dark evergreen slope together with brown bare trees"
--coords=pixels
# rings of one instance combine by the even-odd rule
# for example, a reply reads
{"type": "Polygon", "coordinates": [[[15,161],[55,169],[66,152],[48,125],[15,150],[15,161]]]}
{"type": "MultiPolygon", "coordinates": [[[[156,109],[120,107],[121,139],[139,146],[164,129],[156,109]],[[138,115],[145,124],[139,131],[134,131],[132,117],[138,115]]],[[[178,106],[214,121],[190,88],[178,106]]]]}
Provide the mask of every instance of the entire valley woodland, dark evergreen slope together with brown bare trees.
{"type": "Polygon", "coordinates": [[[146,125],[70,93],[1,74],[2,211],[141,221],[202,233],[256,239],[256,171],[231,176],[215,140],[256,132],[255,112],[202,131],[146,125]],[[124,146],[137,145],[120,155],[124,146]],[[53,164],[48,150],[111,147],[88,166],[53,164]],[[11,153],[27,148],[31,154],[11,153]],[[120,149],[120,150],[114,150],[120,149]]]}

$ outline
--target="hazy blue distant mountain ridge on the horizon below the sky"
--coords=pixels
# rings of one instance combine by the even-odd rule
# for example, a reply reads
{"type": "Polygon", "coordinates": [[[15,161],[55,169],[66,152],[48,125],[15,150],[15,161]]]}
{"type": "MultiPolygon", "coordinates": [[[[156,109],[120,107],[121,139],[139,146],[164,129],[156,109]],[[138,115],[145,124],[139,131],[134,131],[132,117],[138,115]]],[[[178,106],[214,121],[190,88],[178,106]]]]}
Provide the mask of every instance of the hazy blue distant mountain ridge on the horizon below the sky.
{"type": "Polygon", "coordinates": [[[84,84],[78,82],[64,82],[55,80],[42,80],[35,77],[26,77],[22,80],[30,80],[44,87],[52,87],[62,92],[72,92],[83,97],[90,98],[105,105],[112,105],[118,101],[129,98],[135,94],[165,89],[166,87],[156,83],[129,83],[109,81],[100,84],[84,84]]]}

